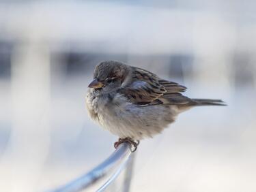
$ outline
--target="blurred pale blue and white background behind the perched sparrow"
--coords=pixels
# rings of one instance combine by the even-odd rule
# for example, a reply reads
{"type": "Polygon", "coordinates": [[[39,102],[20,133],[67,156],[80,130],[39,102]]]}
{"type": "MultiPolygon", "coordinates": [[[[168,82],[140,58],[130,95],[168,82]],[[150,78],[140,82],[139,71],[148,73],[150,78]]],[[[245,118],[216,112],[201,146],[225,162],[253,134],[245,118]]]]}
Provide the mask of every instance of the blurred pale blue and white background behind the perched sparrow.
{"type": "Polygon", "coordinates": [[[0,191],[52,189],[113,152],[117,138],[85,110],[104,60],[228,103],[143,140],[132,191],[256,191],[255,11],[253,0],[1,0],[0,191]]]}

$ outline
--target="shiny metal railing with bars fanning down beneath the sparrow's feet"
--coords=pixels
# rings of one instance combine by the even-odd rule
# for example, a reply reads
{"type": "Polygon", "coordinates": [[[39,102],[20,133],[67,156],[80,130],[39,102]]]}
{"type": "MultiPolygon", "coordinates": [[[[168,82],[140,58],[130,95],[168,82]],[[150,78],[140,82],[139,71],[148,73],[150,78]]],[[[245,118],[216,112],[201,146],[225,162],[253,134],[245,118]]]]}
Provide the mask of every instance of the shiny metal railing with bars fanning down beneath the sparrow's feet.
{"type": "Polygon", "coordinates": [[[112,153],[112,155],[100,163],[93,170],[87,174],[68,182],[68,184],[48,192],[76,192],[89,189],[98,182],[106,180],[104,185],[98,191],[105,191],[115,181],[117,176],[126,168],[125,178],[122,191],[128,192],[130,190],[130,183],[132,179],[132,167],[134,161],[134,153],[131,150],[132,146],[128,143],[122,143],[112,153]]]}

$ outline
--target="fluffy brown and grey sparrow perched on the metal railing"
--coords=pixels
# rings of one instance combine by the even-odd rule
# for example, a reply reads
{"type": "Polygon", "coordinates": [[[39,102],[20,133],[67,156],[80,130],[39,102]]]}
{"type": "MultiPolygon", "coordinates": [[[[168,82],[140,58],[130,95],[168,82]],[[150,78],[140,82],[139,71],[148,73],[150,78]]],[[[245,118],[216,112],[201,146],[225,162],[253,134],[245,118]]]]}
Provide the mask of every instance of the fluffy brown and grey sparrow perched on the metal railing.
{"type": "Polygon", "coordinates": [[[119,137],[114,146],[152,138],[195,106],[225,106],[219,99],[190,99],[186,87],[150,71],[119,61],[102,61],[89,84],[86,106],[89,116],[119,137]]]}

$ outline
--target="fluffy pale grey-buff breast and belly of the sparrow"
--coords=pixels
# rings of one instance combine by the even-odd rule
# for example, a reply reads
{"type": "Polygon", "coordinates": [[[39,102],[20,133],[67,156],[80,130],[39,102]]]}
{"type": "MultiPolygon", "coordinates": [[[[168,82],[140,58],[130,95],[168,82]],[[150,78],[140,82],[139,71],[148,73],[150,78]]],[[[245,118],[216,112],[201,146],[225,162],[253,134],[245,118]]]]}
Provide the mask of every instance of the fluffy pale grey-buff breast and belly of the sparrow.
{"type": "Polygon", "coordinates": [[[137,106],[122,95],[87,99],[91,118],[119,138],[152,137],[173,122],[177,114],[175,106],[137,106]]]}

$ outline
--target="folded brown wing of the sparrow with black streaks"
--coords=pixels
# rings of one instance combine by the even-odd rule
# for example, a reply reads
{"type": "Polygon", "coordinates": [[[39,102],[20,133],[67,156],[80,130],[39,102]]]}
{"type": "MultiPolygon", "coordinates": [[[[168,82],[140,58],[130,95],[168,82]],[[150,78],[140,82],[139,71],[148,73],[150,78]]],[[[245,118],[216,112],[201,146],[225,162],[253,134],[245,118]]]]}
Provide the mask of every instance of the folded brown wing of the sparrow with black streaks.
{"type": "Polygon", "coordinates": [[[137,105],[184,105],[192,100],[181,92],[186,87],[175,82],[162,80],[150,71],[134,67],[130,83],[119,90],[137,105]]]}

